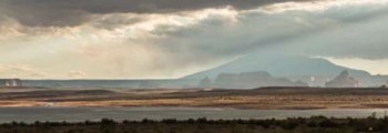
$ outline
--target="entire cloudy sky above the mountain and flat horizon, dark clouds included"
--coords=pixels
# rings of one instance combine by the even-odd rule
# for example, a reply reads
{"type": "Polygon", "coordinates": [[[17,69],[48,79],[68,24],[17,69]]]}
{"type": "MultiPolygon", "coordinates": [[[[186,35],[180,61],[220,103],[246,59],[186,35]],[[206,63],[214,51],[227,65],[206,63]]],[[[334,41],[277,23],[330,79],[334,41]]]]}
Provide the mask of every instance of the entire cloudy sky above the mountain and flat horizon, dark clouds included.
{"type": "Polygon", "coordinates": [[[0,0],[0,78],[174,79],[255,52],[388,74],[388,0],[0,0]]]}

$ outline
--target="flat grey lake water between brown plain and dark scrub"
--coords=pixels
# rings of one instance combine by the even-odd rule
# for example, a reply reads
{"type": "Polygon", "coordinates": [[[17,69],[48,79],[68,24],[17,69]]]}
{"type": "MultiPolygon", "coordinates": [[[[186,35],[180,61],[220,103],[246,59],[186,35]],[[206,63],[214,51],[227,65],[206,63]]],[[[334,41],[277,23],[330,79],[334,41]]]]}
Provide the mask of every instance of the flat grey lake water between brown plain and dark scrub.
{"type": "Polygon", "coordinates": [[[384,116],[386,110],[236,110],[211,108],[0,108],[0,122],[34,121],[98,121],[103,117],[113,120],[163,120],[163,119],[285,119],[325,115],[335,117],[366,117],[376,112],[384,116]]]}

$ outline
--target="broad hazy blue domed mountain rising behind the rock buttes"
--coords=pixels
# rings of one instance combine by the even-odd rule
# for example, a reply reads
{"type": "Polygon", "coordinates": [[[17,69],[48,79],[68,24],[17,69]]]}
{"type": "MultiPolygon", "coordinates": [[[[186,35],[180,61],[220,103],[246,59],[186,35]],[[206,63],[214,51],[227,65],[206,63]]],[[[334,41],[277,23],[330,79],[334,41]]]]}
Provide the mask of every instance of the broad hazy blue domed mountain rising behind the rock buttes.
{"type": "Polygon", "coordinates": [[[300,80],[312,86],[324,86],[327,81],[343,71],[348,71],[351,76],[360,81],[363,86],[378,86],[386,83],[388,79],[385,75],[377,78],[363,70],[336,65],[320,58],[268,53],[248,54],[214,69],[184,76],[183,79],[210,78],[215,80],[222,73],[257,71],[265,71],[273,76],[287,78],[292,81],[300,80]]]}

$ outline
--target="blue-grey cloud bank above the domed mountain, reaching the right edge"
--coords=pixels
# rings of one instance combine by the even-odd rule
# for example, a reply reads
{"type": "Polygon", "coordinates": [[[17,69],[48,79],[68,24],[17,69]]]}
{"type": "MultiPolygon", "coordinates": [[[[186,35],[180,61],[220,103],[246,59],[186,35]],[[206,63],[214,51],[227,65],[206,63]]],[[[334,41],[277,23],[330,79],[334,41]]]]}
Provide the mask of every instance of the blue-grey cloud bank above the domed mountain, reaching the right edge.
{"type": "MultiPolygon", "coordinates": [[[[288,52],[338,58],[386,59],[386,6],[331,8],[323,12],[242,13],[231,24],[213,18],[175,31],[161,28],[157,41],[165,53],[191,57],[182,61],[246,54],[288,52]],[[375,9],[376,8],[376,9],[375,9]],[[349,13],[350,12],[350,13],[349,13]],[[198,58],[200,57],[200,58],[198,58]]],[[[174,57],[174,55],[172,55],[174,57]]]]}

